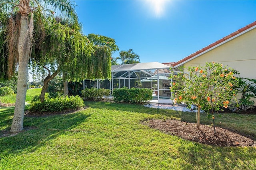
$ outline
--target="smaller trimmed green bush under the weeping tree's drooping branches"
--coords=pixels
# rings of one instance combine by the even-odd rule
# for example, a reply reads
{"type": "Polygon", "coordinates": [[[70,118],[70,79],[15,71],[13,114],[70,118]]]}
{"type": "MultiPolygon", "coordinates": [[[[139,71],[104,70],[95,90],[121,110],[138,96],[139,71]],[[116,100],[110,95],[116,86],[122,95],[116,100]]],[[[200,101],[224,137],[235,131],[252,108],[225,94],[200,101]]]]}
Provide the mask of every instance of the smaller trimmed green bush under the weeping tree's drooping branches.
{"type": "Polygon", "coordinates": [[[84,100],[100,100],[103,96],[106,96],[108,98],[108,96],[110,95],[110,90],[86,88],[82,90],[82,94],[84,95],[84,100]]]}

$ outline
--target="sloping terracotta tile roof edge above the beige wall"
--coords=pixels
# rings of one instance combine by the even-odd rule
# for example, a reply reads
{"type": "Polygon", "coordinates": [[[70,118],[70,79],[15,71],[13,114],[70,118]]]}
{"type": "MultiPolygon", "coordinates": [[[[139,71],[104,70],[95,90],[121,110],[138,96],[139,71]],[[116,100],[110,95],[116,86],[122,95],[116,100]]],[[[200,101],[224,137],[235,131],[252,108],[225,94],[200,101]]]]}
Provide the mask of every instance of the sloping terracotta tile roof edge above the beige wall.
{"type": "MultiPolygon", "coordinates": [[[[184,61],[186,61],[186,60],[188,60],[188,59],[190,59],[190,58],[192,58],[192,57],[194,57],[194,56],[196,56],[196,55],[202,53],[203,51],[206,51],[206,50],[208,50],[208,49],[214,47],[215,45],[217,45],[217,44],[219,44],[219,43],[222,43],[222,42],[224,42],[224,41],[226,41],[226,40],[228,40],[228,39],[230,39],[230,38],[236,36],[237,34],[239,34],[239,33],[241,33],[241,32],[244,32],[245,30],[248,30],[249,28],[251,28],[251,27],[253,27],[253,26],[256,26],[256,21],[252,22],[251,24],[249,24],[249,25],[247,25],[247,26],[245,26],[245,27],[243,27],[243,28],[240,28],[239,30],[237,30],[237,31],[235,31],[235,32],[233,32],[233,33],[231,33],[231,34],[229,34],[229,35],[226,36],[226,37],[223,37],[222,39],[220,39],[220,40],[218,40],[218,41],[216,41],[216,42],[214,42],[214,43],[211,43],[210,45],[208,45],[208,46],[206,46],[206,47],[204,47],[204,48],[202,48],[202,49],[196,51],[195,53],[192,53],[192,54],[188,55],[187,57],[185,57],[185,58],[183,58],[183,59],[181,59],[181,60],[179,60],[179,61],[177,61],[177,62],[175,62],[175,63],[172,63],[172,66],[176,66],[176,65],[178,65],[178,64],[180,64],[180,63],[182,63],[182,62],[184,62],[184,61]]],[[[164,63],[163,63],[163,64],[164,64],[164,63]]]]}

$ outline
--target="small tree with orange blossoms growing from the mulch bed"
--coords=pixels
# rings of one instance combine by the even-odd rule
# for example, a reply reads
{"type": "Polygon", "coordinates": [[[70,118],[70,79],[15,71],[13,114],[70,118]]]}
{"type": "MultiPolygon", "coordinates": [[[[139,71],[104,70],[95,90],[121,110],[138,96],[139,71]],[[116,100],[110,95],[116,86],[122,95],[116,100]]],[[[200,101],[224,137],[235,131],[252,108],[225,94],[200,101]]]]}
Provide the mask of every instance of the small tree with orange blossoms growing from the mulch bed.
{"type": "MultiPolygon", "coordinates": [[[[188,73],[178,73],[172,78],[177,81],[172,84],[174,103],[185,102],[197,105],[197,127],[200,128],[200,109],[208,112],[212,107],[228,107],[230,100],[237,93],[234,70],[222,67],[220,63],[206,63],[205,66],[188,67],[188,73]]],[[[213,117],[214,119],[214,117],[213,117]]]]}

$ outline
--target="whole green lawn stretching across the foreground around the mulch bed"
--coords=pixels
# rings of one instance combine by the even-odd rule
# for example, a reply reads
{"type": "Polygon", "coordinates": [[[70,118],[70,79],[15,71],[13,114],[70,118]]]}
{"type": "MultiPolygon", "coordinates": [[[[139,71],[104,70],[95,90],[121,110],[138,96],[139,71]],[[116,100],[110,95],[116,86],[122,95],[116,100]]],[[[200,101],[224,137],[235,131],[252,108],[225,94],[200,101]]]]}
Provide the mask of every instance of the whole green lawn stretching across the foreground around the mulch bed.
{"type": "MultiPolygon", "coordinates": [[[[208,146],[141,124],[169,118],[195,122],[195,113],[107,102],[86,105],[73,114],[25,117],[24,127],[32,130],[0,138],[0,169],[256,169],[256,147],[208,146]]],[[[13,108],[0,109],[1,130],[10,129],[13,108]]],[[[201,114],[201,123],[210,125],[206,117],[201,114]]],[[[255,122],[256,115],[216,117],[217,125],[254,140],[255,122]]]]}

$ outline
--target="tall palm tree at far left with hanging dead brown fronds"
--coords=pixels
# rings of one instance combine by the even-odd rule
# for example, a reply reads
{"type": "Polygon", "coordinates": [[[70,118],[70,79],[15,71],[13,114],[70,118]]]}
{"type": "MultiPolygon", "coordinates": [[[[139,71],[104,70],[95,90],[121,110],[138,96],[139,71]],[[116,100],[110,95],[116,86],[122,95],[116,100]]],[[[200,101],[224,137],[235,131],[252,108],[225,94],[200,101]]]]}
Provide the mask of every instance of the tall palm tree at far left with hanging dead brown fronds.
{"type": "Polygon", "coordinates": [[[35,41],[38,42],[36,45],[43,42],[43,22],[45,17],[54,14],[52,10],[47,8],[52,7],[53,10],[58,10],[60,14],[63,14],[65,18],[71,18],[74,21],[77,20],[77,15],[73,4],[69,0],[19,0],[19,2],[17,0],[5,0],[0,6],[0,16],[3,16],[3,14],[5,16],[6,14],[10,15],[6,27],[8,60],[10,59],[10,62],[18,61],[19,66],[16,103],[10,130],[11,132],[18,132],[23,129],[28,60],[32,52],[32,46],[35,41]],[[16,15],[15,18],[14,15],[16,15]],[[36,16],[35,19],[33,18],[34,15],[36,16]],[[34,25],[34,20],[37,20],[37,25],[34,25]],[[40,21],[42,24],[39,24],[40,21]],[[39,36],[33,34],[34,26],[41,27],[39,36]],[[38,37],[39,39],[35,40],[38,37]],[[18,51],[18,55],[16,55],[16,51],[18,51]]]}

